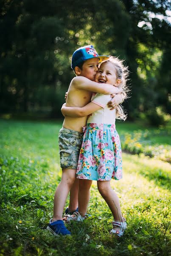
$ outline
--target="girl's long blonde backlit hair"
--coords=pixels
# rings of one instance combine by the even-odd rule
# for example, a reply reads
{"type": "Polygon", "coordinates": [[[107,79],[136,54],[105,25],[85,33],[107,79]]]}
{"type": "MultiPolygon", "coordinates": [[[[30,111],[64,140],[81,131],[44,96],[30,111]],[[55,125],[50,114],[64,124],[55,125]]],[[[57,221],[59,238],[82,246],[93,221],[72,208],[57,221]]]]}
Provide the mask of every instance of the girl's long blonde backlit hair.
{"type": "MultiPolygon", "coordinates": [[[[129,88],[126,84],[126,82],[129,80],[128,79],[128,75],[129,75],[129,70],[128,67],[126,67],[123,62],[124,60],[120,60],[117,57],[114,56],[109,56],[109,59],[106,61],[102,61],[102,63],[112,63],[115,66],[116,69],[116,76],[117,79],[121,79],[121,84],[119,86],[122,87],[123,92],[121,93],[122,96],[122,102],[124,101],[124,99],[129,98],[128,96],[128,92],[129,92],[129,88]]],[[[121,104],[122,104],[121,102],[121,104]]],[[[123,119],[123,121],[126,120],[127,114],[124,113],[123,110],[123,106],[119,104],[115,109],[116,109],[116,119],[123,119]]]]}

